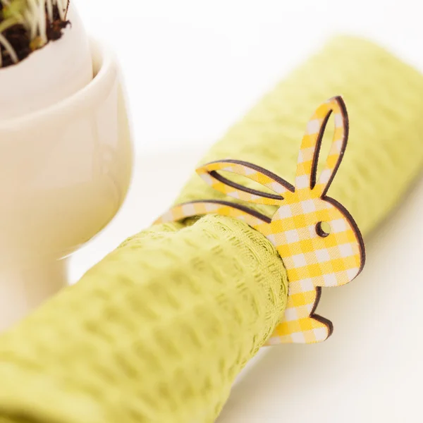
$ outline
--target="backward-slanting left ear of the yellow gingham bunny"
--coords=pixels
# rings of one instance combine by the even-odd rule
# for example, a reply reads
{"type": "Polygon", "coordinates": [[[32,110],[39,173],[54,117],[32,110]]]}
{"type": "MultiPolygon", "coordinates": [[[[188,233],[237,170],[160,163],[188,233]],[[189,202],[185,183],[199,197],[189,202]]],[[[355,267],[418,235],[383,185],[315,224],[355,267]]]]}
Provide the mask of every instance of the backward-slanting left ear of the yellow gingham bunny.
{"type": "Polygon", "coordinates": [[[247,202],[254,202],[257,204],[280,205],[283,200],[283,195],[290,191],[294,192],[293,185],[279,178],[274,173],[266,171],[266,169],[256,166],[255,164],[247,163],[246,161],[238,160],[223,160],[213,161],[200,168],[197,168],[197,173],[201,178],[212,188],[223,192],[238,200],[247,202]],[[253,190],[245,187],[239,183],[233,182],[219,173],[219,171],[226,171],[245,176],[255,182],[269,188],[274,193],[264,192],[260,190],[253,190]]]}

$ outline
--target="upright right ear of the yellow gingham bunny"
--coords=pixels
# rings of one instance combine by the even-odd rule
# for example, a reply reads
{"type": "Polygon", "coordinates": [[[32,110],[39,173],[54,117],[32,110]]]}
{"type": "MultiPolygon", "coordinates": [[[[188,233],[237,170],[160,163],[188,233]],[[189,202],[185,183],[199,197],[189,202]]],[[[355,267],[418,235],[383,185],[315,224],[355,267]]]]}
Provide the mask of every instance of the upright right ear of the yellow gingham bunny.
{"type": "Polygon", "coordinates": [[[298,156],[296,190],[312,190],[316,195],[324,197],[332,183],[336,171],[341,164],[348,141],[348,114],[342,97],[333,97],[321,104],[307,124],[307,130],[302,138],[298,156]],[[317,181],[317,162],[321,140],[329,117],[333,113],[335,132],[326,166],[317,181]]]}

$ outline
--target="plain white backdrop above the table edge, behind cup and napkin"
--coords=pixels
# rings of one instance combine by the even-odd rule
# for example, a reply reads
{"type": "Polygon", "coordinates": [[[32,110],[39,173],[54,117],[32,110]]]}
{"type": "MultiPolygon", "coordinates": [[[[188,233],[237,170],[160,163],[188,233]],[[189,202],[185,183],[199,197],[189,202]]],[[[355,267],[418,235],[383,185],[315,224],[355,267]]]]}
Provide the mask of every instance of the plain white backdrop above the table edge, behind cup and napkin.
{"type": "Polygon", "coordinates": [[[78,0],[118,51],[137,150],[210,145],[333,33],[423,68],[420,0],[78,0]]]}

